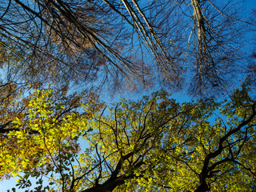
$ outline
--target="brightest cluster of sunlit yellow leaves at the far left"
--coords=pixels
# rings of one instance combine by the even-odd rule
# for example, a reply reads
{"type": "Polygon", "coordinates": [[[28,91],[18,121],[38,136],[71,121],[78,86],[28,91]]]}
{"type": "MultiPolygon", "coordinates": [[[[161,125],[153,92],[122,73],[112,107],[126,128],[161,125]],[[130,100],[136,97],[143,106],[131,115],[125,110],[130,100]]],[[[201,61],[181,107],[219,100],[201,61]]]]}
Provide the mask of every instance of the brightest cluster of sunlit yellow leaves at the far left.
{"type": "Polygon", "coordinates": [[[38,90],[26,106],[28,114],[13,121],[12,130],[0,143],[1,175],[16,176],[52,164],[59,153],[78,152],[77,140],[86,129],[86,120],[76,112],[64,114],[64,104],[54,103],[52,98],[52,90],[38,90]]]}

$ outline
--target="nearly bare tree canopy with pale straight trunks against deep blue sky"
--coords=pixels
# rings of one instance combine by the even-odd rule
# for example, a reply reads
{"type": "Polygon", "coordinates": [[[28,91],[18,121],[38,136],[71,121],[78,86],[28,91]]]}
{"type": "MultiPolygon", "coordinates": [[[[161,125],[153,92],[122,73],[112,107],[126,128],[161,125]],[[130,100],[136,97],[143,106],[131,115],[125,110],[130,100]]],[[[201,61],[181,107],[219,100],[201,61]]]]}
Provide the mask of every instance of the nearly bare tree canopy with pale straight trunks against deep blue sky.
{"type": "Polygon", "coordinates": [[[114,90],[160,83],[173,90],[187,85],[197,95],[225,90],[234,74],[246,73],[251,54],[244,45],[255,24],[242,6],[233,0],[3,1],[2,68],[19,83],[114,90]]]}

